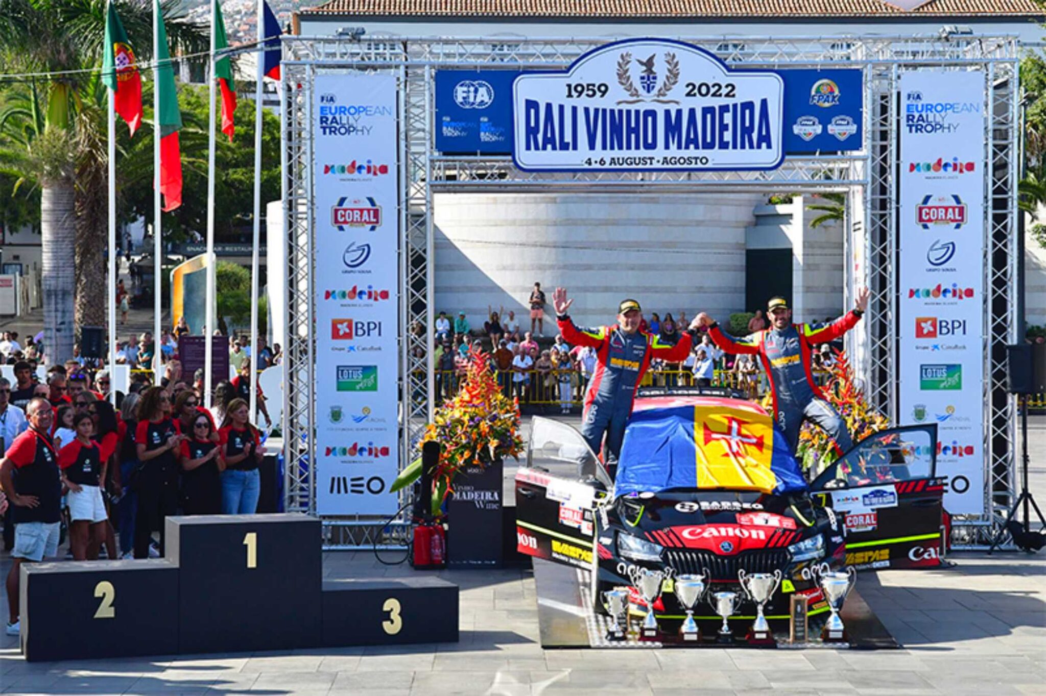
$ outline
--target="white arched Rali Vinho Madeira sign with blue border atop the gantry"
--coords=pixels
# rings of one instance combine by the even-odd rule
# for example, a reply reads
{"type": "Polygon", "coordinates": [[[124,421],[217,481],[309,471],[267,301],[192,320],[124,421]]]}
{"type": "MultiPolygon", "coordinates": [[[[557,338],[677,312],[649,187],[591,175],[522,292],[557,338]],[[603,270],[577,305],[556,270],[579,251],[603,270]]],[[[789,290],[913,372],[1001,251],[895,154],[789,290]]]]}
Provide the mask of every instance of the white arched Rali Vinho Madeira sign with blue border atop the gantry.
{"type": "Polygon", "coordinates": [[[678,41],[607,44],[565,72],[521,74],[513,92],[525,171],[775,169],[784,158],[780,75],[678,41]]]}

